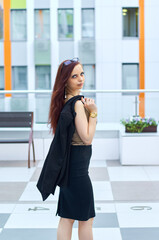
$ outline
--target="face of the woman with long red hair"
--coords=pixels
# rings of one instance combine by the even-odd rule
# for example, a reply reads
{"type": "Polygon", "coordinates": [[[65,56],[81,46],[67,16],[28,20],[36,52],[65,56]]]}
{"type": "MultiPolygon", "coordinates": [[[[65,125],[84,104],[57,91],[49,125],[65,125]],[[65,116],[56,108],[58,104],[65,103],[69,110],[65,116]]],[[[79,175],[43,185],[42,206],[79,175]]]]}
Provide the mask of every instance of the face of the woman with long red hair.
{"type": "Polygon", "coordinates": [[[71,72],[67,81],[67,89],[72,91],[81,89],[85,81],[84,71],[81,64],[77,64],[71,72]]]}

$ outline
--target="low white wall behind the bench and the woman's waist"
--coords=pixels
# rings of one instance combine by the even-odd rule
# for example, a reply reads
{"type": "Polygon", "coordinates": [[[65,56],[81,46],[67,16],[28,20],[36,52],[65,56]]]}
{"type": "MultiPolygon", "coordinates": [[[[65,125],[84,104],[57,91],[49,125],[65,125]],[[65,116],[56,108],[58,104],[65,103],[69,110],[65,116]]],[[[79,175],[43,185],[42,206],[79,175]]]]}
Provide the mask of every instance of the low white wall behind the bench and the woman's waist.
{"type": "MultiPolygon", "coordinates": [[[[52,139],[34,139],[36,160],[45,160],[52,139]]],[[[28,144],[0,144],[1,160],[26,160],[28,159],[28,144]]],[[[33,160],[32,147],[30,149],[31,161],[33,160]]],[[[117,160],[119,159],[118,138],[98,138],[92,142],[92,160],[117,160]]]]}

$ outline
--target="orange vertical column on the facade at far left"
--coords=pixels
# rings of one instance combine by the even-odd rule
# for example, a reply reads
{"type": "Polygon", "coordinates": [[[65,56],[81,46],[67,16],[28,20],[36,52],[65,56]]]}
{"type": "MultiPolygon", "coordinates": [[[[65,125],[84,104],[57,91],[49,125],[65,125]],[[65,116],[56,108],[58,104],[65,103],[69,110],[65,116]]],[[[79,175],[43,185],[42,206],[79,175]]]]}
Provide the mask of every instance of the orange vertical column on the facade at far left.
{"type": "MultiPolygon", "coordinates": [[[[10,0],[3,0],[4,6],[4,79],[5,90],[11,90],[11,41],[10,41],[10,0]]],[[[5,97],[10,97],[6,93],[5,97]]]]}

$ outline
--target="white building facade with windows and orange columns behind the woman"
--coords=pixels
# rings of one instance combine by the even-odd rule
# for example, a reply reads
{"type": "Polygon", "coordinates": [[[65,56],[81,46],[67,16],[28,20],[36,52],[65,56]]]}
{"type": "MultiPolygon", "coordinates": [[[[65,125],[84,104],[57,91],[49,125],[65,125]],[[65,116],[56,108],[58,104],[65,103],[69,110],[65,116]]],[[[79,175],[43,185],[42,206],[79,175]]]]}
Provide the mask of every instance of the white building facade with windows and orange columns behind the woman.
{"type": "MultiPolygon", "coordinates": [[[[0,0],[0,89],[51,90],[60,62],[73,57],[84,67],[83,89],[159,88],[158,10],[157,0],[0,0]]],[[[101,122],[134,114],[134,93],[85,95],[101,122]]],[[[157,94],[137,96],[139,114],[156,117],[157,94]]],[[[34,106],[36,122],[47,120],[38,106],[49,106],[48,95],[0,99],[1,110],[34,106]]]]}

